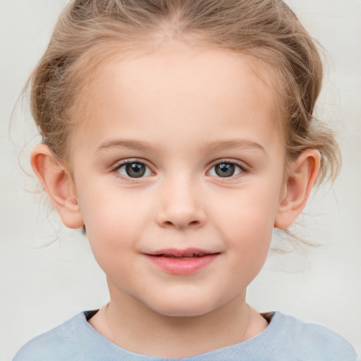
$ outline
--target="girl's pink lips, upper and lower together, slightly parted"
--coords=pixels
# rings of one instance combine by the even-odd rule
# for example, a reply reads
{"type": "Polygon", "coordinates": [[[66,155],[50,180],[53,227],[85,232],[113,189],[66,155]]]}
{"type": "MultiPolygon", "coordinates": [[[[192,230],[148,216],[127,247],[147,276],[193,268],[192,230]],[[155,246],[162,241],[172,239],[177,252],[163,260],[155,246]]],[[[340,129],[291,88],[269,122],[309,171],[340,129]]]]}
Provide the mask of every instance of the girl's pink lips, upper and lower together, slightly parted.
{"type": "Polygon", "coordinates": [[[164,249],[144,254],[152,264],[169,274],[195,274],[213,262],[220,252],[200,248],[164,249]]]}

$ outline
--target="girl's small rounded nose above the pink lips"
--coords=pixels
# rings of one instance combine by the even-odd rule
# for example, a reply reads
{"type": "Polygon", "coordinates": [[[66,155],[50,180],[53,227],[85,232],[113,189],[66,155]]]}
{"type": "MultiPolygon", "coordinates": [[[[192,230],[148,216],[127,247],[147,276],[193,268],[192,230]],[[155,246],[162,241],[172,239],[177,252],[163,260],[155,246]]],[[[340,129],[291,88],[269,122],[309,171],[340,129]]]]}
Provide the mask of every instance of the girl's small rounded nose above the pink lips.
{"type": "Polygon", "coordinates": [[[198,228],[205,222],[205,212],[199,187],[192,179],[166,181],[160,190],[157,223],[162,227],[198,228]]]}

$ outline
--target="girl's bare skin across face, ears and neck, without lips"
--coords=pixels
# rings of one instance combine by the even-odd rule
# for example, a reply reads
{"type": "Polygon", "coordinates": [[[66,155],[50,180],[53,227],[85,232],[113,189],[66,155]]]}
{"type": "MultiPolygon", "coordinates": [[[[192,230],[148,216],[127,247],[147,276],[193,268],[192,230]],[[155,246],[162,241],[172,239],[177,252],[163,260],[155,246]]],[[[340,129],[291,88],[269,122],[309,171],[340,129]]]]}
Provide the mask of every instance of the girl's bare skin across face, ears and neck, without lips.
{"type": "Polygon", "coordinates": [[[267,327],[245,302],[246,288],[274,226],[290,226],[305,206],[319,154],[308,149],[286,166],[272,80],[250,65],[176,42],[115,57],[79,100],[71,165],[46,145],[32,153],[63,223],[85,224],[106,274],[111,301],[90,324],[123,348],[189,357],[267,327]],[[145,176],[130,178],[125,160],[145,164],[145,176]],[[222,162],[235,164],[233,176],[217,175],[222,162]],[[186,275],[146,256],[188,247],[216,256],[186,275]]]}

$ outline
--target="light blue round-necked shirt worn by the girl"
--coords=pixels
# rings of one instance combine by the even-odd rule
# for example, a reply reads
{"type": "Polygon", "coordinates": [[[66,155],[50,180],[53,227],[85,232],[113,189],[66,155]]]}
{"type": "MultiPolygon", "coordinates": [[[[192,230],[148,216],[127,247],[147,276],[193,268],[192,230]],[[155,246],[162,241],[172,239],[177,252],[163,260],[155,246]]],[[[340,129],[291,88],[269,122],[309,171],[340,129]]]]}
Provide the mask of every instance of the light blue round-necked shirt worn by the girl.
{"type": "Polygon", "coordinates": [[[261,334],[236,345],[183,359],[150,357],[124,350],[95,331],[87,322],[95,312],[77,314],[34,338],[13,361],[360,361],[338,334],[280,312],[268,314],[269,326],[261,334]]]}

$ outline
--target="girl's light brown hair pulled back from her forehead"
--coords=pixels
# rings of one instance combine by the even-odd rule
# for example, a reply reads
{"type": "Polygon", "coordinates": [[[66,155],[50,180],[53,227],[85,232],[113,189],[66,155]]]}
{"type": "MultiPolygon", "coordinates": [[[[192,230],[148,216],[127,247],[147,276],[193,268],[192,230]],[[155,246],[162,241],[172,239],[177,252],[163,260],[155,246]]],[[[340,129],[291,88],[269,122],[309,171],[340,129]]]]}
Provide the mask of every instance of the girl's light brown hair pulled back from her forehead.
{"type": "Polygon", "coordinates": [[[119,49],[177,38],[253,56],[275,69],[288,157],[307,148],[322,154],[318,181],[338,173],[331,130],[313,116],[322,61],[310,34],[281,0],[73,0],[30,77],[32,116],[44,143],[70,159],[69,109],[76,108],[84,72],[119,49]],[[100,49],[108,49],[100,51],[100,49]],[[85,71],[84,71],[85,69],[85,71]]]}

